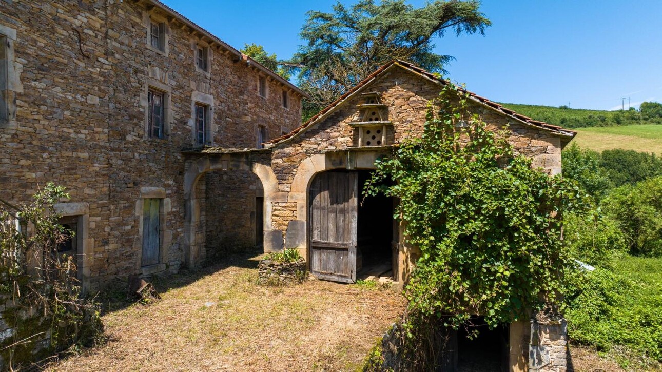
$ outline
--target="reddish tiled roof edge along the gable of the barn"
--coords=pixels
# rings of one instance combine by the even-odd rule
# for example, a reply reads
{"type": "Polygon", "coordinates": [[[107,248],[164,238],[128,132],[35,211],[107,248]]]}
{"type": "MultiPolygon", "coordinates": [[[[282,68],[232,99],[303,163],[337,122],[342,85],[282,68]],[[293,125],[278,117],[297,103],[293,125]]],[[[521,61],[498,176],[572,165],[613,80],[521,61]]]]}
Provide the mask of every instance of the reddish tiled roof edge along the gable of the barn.
{"type": "MultiPolygon", "coordinates": [[[[326,117],[328,113],[336,109],[340,104],[344,103],[348,97],[354,95],[357,91],[359,91],[361,88],[365,87],[365,85],[371,83],[374,79],[376,79],[379,75],[384,73],[386,70],[389,70],[389,68],[392,68],[393,66],[399,66],[400,68],[404,68],[404,70],[408,70],[415,75],[424,77],[425,79],[432,80],[435,83],[446,85],[446,84],[451,84],[450,81],[446,79],[442,79],[438,77],[437,75],[434,75],[434,73],[430,73],[426,70],[423,70],[422,68],[415,66],[414,64],[411,64],[406,61],[402,60],[392,60],[391,62],[381,66],[380,68],[377,69],[377,71],[371,73],[366,77],[363,81],[352,87],[347,93],[344,95],[340,96],[340,98],[336,99],[332,104],[328,105],[322,111],[317,113],[316,115],[312,116],[307,122],[299,126],[299,128],[296,128],[292,132],[289,132],[288,134],[285,134],[284,136],[281,136],[279,138],[275,138],[269,142],[265,142],[266,144],[275,144],[277,142],[281,142],[284,140],[288,140],[289,138],[293,138],[297,136],[297,134],[301,132],[305,132],[310,126],[316,124],[321,118],[326,117]]],[[[471,99],[474,101],[477,101],[479,103],[482,103],[483,105],[489,107],[490,109],[493,109],[495,111],[498,111],[499,113],[502,113],[506,116],[509,116],[511,118],[514,118],[524,124],[528,124],[530,126],[535,126],[544,130],[549,130],[553,134],[557,134],[559,136],[564,136],[567,138],[573,138],[577,132],[574,132],[572,130],[567,130],[562,128],[561,126],[556,126],[556,125],[551,125],[547,124],[546,122],[542,122],[539,120],[533,120],[532,118],[524,115],[520,115],[510,109],[506,109],[502,105],[499,105],[496,102],[490,101],[489,99],[485,97],[481,97],[473,92],[467,91],[463,89],[462,87],[457,87],[457,90],[461,93],[468,93],[471,99]]]]}

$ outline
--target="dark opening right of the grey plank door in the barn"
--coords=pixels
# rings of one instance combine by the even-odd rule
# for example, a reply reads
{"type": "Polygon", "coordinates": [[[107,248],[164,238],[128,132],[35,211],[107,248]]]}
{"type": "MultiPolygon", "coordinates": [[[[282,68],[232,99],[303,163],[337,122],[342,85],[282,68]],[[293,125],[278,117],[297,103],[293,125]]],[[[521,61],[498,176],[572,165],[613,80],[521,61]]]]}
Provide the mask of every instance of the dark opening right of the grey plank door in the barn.
{"type": "MultiPolygon", "coordinates": [[[[390,277],[397,280],[397,222],[393,219],[395,201],[383,194],[363,197],[363,187],[372,171],[358,171],[359,203],[356,231],[357,279],[390,277]]],[[[390,185],[389,181],[383,181],[390,185]]]]}

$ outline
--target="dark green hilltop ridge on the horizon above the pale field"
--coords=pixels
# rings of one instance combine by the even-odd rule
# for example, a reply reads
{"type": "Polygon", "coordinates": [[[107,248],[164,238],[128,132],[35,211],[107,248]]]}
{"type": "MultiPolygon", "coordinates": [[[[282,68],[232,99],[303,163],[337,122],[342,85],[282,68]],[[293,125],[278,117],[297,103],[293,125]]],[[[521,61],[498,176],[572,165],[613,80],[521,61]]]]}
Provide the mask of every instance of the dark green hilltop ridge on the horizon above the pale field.
{"type": "Polygon", "coordinates": [[[565,128],[585,128],[593,126],[616,126],[634,124],[662,124],[662,118],[639,116],[638,111],[601,111],[584,109],[562,109],[551,106],[518,105],[501,103],[504,107],[535,120],[542,120],[565,128]]]}

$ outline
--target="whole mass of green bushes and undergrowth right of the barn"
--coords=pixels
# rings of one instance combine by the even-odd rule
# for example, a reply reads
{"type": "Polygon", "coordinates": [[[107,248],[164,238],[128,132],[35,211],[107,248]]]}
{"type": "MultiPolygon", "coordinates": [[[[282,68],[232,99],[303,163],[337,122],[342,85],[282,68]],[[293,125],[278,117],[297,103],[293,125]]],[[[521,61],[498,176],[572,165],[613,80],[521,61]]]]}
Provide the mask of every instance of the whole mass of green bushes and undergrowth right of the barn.
{"type": "Polygon", "coordinates": [[[563,152],[564,175],[596,199],[591,214],[565,217],[573,257],[596,267],[568,294],[569,336],[634,369],[662,361],[661,171],[652,154],[563,152]]]}

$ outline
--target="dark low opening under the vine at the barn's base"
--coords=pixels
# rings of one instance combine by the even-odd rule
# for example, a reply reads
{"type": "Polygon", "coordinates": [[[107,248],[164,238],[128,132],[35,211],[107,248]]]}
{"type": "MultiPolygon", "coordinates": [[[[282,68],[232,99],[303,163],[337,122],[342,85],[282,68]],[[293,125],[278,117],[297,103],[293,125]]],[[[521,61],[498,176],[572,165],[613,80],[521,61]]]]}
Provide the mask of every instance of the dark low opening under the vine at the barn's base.
{"type": "Polygon", "coordinates": [[[490,330],[482,316],[457,330],[457,372],[508,371],[508,324],[490,330]],[[477,330],[478,336],[467,338],[477,330]]]}

